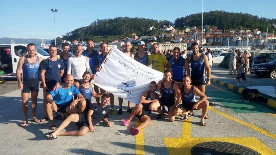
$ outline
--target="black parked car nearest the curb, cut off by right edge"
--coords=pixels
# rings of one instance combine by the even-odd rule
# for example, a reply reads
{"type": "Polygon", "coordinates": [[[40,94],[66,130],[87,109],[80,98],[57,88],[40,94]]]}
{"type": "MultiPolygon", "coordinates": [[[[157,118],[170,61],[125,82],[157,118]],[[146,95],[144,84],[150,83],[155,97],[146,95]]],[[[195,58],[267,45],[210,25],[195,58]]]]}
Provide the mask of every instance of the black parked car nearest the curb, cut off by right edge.
{"type": "Polygon", "coordinates": [[[257,76],[268,76],[272,79],[276,78],[276,59],[271,62],[257,64],[252,66],[252,70],[250,70],[251,74],[255,74],[257,76]]]}

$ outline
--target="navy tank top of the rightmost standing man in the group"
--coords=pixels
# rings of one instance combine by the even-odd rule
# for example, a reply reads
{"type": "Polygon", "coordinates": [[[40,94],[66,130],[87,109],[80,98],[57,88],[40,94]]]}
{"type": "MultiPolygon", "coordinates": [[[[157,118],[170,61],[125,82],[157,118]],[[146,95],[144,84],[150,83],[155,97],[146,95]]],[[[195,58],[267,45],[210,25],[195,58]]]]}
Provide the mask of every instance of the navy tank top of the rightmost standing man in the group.
{"type": "Polygon", "coordinates": [[[199,60],[194,61],[193,54],[191,55],[191,67],[192,67],[192,75],[202,75],[204,76],[204,62],[203,62],[203,53],[200,55],[199,60]]]}

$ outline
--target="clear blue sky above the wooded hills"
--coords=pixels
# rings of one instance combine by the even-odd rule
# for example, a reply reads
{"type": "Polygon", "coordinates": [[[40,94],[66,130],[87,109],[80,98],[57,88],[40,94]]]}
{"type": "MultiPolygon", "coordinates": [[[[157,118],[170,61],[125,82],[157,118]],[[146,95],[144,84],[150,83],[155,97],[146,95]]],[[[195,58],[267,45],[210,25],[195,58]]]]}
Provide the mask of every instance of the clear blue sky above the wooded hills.
{"type": "MultiPolygon", "coordinates": [[[[138,1],[77,1],[77,0],[1,0],[0,38],[54,39],[87,26],[97,19],[139,17],[174,22],[176,18],[201,12],[201,0],[138,0],[138,1]]],[[[203,0],[203,11],[224,10],[258,17],[276,18],[276,0],[203,0]]]]}

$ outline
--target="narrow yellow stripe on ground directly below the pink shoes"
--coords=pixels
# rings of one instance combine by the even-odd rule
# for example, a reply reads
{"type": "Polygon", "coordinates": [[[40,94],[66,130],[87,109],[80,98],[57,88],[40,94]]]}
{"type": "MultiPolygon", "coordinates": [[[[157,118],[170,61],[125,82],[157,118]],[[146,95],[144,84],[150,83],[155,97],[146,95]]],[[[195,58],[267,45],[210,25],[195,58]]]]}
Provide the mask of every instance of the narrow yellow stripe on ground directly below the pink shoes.
{"type": "MultiPolygon", "coordinates": [[[[141,122],[139,120],[136,121],[136,127],[141,122]]],[[[143,129],[140,130],[140,134],[135,136],[135,154],[136,155],[145,155],[145,147],[144,147],[144,133],[143,129]]]]}

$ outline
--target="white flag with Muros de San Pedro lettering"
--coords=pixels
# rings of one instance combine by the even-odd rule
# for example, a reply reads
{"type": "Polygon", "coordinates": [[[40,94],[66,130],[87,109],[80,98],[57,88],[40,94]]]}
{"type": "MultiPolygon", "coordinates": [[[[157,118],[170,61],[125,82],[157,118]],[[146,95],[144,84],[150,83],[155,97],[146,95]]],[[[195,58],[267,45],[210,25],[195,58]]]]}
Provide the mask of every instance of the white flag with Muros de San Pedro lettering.
{"type": "Polygon", "coordinates": [[[93,84],[136,104],[143,91],[149,90],[151,81],[158,82],[163,78],[163,73],[139,63],[114,47],[101,66],[93,84]]]}

